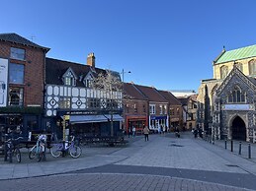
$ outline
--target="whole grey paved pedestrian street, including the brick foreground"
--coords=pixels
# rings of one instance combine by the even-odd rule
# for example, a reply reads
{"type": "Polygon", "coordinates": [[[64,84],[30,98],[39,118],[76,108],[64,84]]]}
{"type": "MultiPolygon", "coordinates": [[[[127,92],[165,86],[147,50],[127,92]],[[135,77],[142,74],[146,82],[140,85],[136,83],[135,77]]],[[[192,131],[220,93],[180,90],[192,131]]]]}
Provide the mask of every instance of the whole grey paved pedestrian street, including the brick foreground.
{"type": "Polygon", "coordinates": [[[0,186],[1,191],[256,190],[253,155],[245,159],[190,133],[150,135],[148,142],[137,136],[127,146],[85,147],[79,159],[47,155],[43,162],[11,164],[1,159],[0,186]]]}

